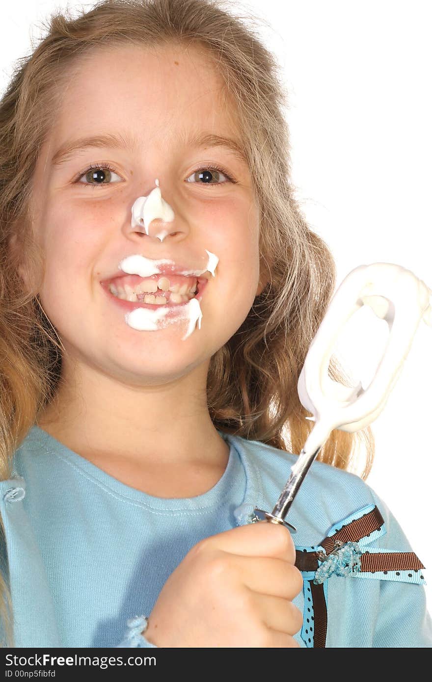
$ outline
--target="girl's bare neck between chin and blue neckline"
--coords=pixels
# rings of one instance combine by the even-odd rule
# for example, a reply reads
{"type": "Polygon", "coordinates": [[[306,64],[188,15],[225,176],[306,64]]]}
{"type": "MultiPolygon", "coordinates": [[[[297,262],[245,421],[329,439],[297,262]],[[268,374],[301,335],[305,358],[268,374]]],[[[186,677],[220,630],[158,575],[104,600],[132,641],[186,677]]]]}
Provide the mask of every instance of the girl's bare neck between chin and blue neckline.
{"type": "Polygon", "coordinates": [[[178,381],[136,387],[81,371],[73,381],[63,377],[37,424],[93,461],[223,467],[229,447],[210,418],[206,378],[199,366],[178,381]]]}

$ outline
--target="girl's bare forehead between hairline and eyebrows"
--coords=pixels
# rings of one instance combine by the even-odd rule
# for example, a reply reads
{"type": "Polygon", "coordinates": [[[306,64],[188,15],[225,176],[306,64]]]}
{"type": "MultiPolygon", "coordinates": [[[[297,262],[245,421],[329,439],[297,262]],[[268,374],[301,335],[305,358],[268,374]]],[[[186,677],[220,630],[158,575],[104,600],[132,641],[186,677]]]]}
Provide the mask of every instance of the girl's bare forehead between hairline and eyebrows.
{"type": "Polygon", "coordinates": [[[237,128],[222,76],[195,46],[98,48],[76,61],[61,93],[57,141],[71,130],[85,136],[121,123],[156,140],[177,127],[219,134],[237,128]]]}

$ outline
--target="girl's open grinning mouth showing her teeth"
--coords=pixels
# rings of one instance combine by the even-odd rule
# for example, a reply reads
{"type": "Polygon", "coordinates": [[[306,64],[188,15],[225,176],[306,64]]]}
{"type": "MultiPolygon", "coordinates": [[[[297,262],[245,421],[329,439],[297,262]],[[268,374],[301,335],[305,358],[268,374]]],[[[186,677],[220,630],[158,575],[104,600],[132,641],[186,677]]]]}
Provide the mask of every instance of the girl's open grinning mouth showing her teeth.
{"type": "Polygon", "coordinates": [[[100,284],[109,297],[123,310],[135,308],[174,310],[187,306],[193,298],[201,301],[207,282],[205,277],[179,279],[177,276],[176,281],[172,282],[163,275],[152,276],[144,281],[137,275],[130,275],[127,278],[115,278],[111,281],[100,282],[100,284]],[[149,280],[154,283],[149,285],[149,280]],[[145,291],[146,288],[152,291],[145,291]]]}

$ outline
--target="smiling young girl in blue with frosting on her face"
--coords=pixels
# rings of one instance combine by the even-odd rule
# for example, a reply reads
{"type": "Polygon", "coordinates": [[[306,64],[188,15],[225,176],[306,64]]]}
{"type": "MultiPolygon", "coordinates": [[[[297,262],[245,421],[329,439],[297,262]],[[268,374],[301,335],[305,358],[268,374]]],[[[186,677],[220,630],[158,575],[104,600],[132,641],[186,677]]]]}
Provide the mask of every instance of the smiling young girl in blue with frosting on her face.
{"type": "Polygon", "coordinates": [[[232,9],[57,14],[3,94],[4,646],[431,645],[369,429],[332,432],[297,533],[254,522],[313,426],[297,381],[335,276],[232,9]]]}

